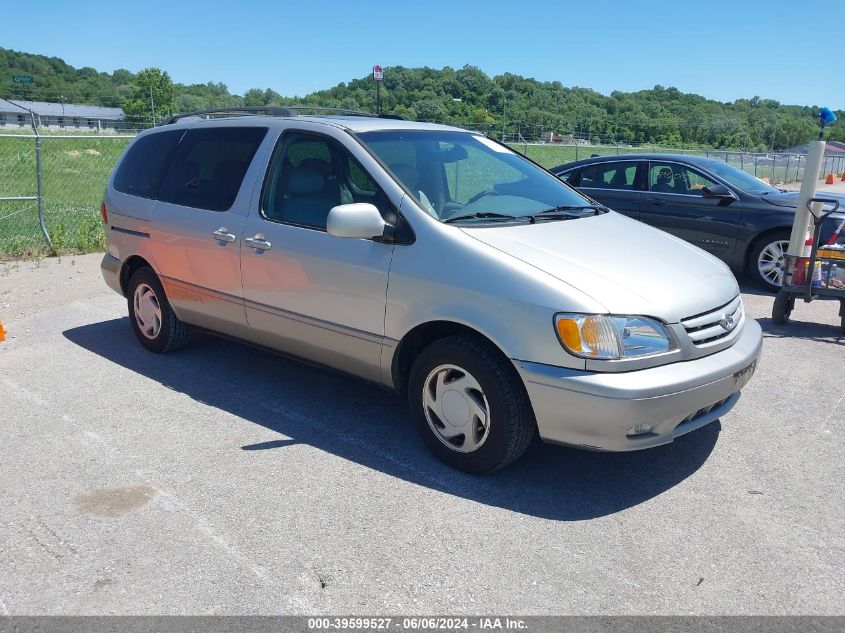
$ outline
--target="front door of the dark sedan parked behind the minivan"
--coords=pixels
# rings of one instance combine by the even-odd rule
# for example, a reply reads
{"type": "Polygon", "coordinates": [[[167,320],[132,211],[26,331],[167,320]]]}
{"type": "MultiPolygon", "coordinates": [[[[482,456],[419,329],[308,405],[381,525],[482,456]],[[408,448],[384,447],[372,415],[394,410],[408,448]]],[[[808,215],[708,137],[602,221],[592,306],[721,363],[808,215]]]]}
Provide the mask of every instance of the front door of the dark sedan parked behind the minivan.
{"type": "Polygon", "coordinates": [[[738,200],[705,198],[702,187],[715,184],[686,165],[651,161],[640,220],[730,262],[742,205],[738,200]]]}

